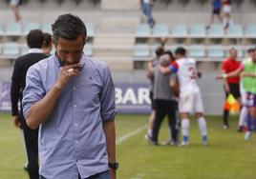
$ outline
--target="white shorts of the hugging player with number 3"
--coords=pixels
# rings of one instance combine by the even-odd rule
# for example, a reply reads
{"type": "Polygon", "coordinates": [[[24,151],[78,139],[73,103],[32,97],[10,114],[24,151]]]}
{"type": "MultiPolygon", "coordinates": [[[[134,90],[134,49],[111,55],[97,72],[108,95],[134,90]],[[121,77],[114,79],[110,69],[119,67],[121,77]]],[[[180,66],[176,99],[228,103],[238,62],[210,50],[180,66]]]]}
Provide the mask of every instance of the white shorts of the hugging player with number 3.
{"type": "Polygon", "coordinates": [[[203,100],[200,89],[180,93],[180,113],[203,113],[203,100]]]}

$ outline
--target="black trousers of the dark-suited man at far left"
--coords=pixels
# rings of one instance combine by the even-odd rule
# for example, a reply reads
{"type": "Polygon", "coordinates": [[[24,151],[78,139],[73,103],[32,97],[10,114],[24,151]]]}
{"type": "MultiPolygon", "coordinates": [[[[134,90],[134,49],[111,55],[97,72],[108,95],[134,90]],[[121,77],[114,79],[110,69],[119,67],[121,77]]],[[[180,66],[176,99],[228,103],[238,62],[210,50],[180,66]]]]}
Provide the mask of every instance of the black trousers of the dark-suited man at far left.
{"type": "Polygon", "coordinates": [[[38,166],[38,129],[30,129],[27,126],[25,117],[20,114],[21,128],[24,132],[25,146],[28,157],[28,172],[30,179],[39,178],[38,166]]]}

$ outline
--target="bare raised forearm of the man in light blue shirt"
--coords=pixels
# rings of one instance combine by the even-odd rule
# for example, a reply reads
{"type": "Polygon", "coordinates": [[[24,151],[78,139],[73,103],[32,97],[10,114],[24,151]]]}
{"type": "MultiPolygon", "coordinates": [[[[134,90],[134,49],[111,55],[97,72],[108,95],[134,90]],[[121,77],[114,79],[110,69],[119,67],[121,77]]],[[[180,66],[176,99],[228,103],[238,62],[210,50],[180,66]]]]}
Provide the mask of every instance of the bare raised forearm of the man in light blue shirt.
{"type": "Polygon", "coordinates": [[[27,115],[27,125],[31,129],[36,129],[41,123],[48,119],[60,93],[61,88],[58,84],[54,84],[53,88],[50,89],[40,101],[32,105],[27,115]]]}

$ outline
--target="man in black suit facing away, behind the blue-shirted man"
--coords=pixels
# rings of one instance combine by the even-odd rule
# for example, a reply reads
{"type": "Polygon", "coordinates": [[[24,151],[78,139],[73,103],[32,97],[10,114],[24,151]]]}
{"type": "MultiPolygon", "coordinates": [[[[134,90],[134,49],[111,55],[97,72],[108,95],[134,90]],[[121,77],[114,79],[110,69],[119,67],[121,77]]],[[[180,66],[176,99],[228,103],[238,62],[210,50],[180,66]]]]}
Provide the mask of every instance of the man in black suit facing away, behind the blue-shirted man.
{"type": "Polygon", "coordinates": [[[25,146],[28,158],[28,172],[31,179],[38,179],[38,129],[30,129],[20,110],[18,102],[22,101],[22,91],[26,85],[26,74],[29,68],[38,61],[47,57],[41,50],[44,41],[44,35],[41,30],[31,30],[27,35],[27,44],[30,48],[28,54],[17,58],[14,64],[14,70],[11,77],[11,111],[14,125],[23,129],[25,146]]]}

